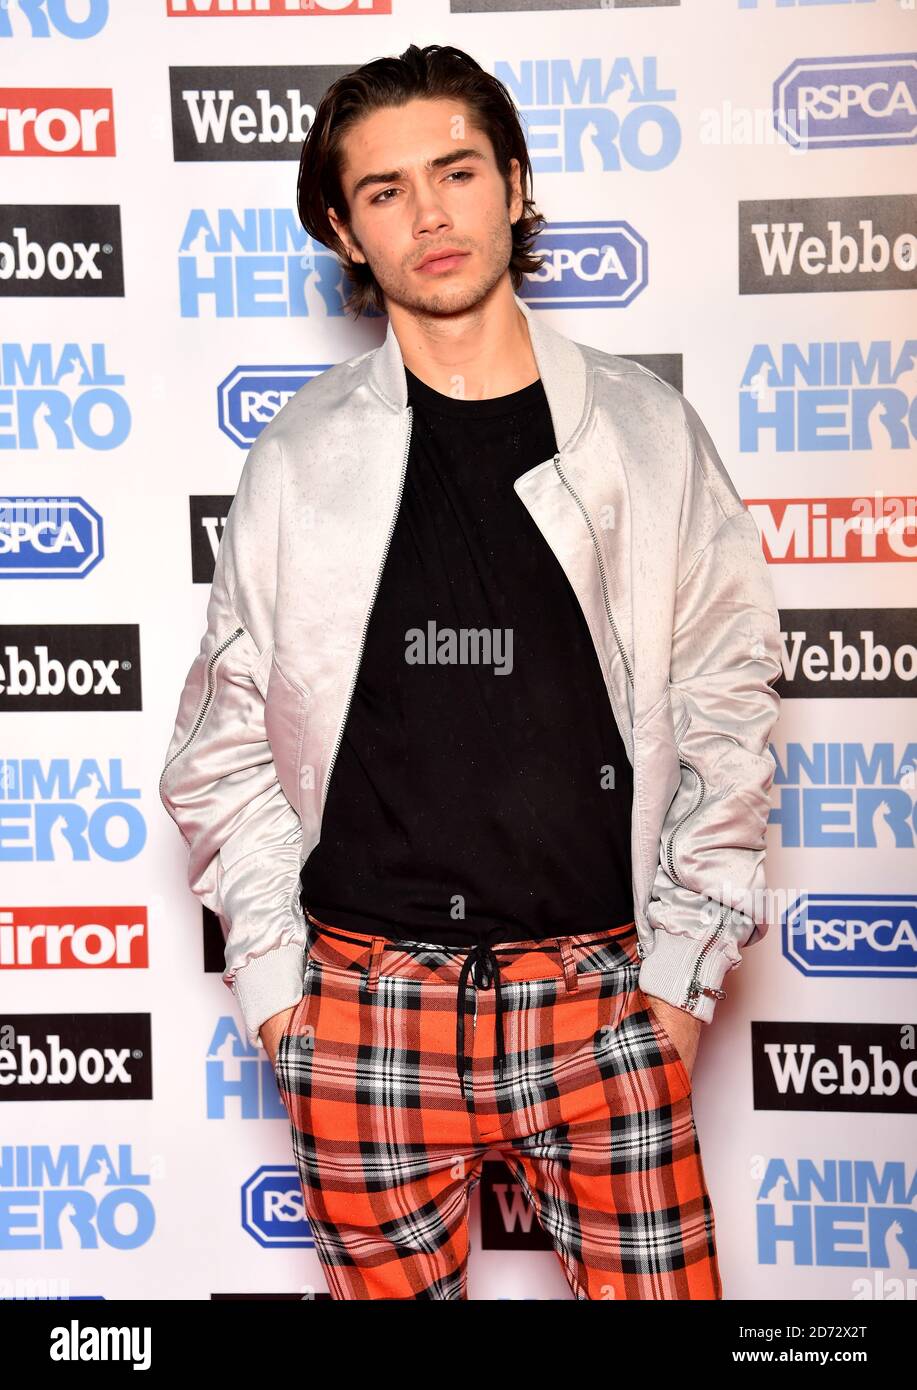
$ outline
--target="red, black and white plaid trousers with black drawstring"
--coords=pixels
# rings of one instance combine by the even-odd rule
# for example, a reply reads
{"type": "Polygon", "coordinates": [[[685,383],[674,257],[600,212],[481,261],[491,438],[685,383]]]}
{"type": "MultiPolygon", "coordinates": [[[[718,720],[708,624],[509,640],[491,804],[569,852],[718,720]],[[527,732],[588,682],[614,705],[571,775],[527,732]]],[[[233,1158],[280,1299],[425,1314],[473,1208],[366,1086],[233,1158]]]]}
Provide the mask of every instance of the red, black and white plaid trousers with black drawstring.
{"type": "Polygon", "coordinates": [[[634,923],[464,948],[307,916],[275,1074],[332,1298],[467,1298],[493,1150],[577,1298],[722,1297],[692,1081],[634,923]]]}

